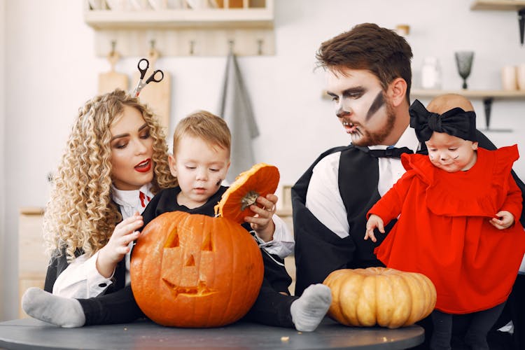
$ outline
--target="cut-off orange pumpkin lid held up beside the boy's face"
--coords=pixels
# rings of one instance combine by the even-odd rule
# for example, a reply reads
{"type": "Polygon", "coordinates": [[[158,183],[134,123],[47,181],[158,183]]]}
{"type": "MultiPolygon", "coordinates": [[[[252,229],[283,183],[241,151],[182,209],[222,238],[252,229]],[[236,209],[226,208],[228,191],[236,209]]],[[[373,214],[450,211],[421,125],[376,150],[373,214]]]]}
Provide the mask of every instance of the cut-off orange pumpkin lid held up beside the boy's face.
{"type": "Polygon", "coordinates": [[[257,197],[275,193],[279,185],[279,169],[274,165],[258,163],[242,172],[226,190],[215,206],[215,215],[244,223],[245,216],[253,216],[251,204],[258,205],[257,197]]]}

